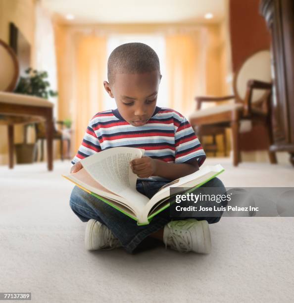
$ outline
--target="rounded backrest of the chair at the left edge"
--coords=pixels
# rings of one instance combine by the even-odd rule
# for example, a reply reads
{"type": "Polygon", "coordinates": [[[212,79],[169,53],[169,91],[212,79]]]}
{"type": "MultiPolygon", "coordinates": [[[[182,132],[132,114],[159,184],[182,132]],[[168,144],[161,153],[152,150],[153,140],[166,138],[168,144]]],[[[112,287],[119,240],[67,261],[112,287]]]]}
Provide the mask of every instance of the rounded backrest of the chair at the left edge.
{"type": "Polygon", "coordinates": [[[19,66],[14,51],[0,40],[0,92],[12,92],[15,88],[19,66]]]}

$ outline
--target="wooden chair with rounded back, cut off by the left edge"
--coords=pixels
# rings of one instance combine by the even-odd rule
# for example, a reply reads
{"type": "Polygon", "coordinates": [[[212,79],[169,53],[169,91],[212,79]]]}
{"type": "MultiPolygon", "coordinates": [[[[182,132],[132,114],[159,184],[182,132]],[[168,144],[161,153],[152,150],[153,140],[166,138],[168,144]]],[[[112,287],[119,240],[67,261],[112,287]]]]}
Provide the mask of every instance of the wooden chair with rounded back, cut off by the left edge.
{"type": "Polygon", "coordinates": [[[48,170],[52,170],[53,103],[42,98],[11,93],[19,75],[18,61],[14,51],[1,40],[0,64],[0,124],[8,126],[9,168],[13,168],[14,164],[13,125],[45,121],[48,170]]]}

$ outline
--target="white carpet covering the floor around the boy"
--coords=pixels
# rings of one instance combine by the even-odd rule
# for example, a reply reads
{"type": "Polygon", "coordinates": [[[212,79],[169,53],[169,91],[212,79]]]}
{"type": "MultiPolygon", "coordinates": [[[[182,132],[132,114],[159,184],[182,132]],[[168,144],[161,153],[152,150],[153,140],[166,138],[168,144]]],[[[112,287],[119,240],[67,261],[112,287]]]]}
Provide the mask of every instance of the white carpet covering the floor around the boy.
{"type": "MultiPolygon", "coordinates": [[[[289,165],[221,163],[225,186],[294,186],[289,165]]],[[[0,167],[0,292],[32,302],[293,302],[294,218],[229,218],[210,225],[209,255],[163,247],[135,255],[88,252],[69,207],[69,161],[0,167]]]]}

